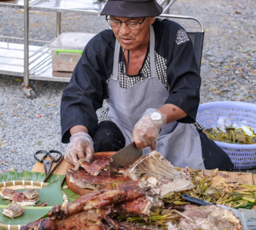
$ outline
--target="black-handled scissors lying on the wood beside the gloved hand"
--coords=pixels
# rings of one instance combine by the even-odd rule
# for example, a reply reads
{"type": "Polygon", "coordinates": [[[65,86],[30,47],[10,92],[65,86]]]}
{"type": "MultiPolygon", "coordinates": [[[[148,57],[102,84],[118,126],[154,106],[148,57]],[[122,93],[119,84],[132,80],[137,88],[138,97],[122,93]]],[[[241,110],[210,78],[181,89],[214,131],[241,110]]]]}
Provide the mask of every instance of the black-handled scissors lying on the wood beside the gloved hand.
{"type": "Polygon", "coordinates": [[[46,151],[46,150],[39,150],[39,151],[37,151],[37,152],[34,153],[34,158],[35,158],[37,161],[39,161],[39,162],[41,162],[41,163],[44,164],[44,171],[45,171],[46,175],[48,175],[49,172],[50,172],[51,166],[52,166],[52,162],[57,163],[57,162],[62,158],[62,153],[61,153],[60,151],[58,151],[58,150],[49,150],[49,151],[46,151]],[[52,153],[56,153],[56,154],[58,155],[58,157],[57,157],[57,158],[54,158],[53,155],[52,155],[52,153]],[[37,157],[38,154],[40,154],[40,155],[43,154],[43,156],[42,156],[41,159],[39,159],[39,158],[37,157]],[[49,156],[49,157],[51,158],[51,160],[49,160],[49,161],[48,161],[48,160],[45,160],[45,158],[46,158],[47,156],[49,156]]]}

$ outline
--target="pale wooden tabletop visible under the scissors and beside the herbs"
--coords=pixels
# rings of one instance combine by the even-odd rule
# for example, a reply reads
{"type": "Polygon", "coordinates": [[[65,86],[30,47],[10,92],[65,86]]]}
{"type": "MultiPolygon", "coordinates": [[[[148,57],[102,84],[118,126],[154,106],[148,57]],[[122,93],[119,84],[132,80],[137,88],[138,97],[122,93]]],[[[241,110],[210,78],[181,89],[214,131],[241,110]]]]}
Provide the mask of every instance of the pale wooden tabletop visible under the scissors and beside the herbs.
{"type": "MultiPolygon", "coordinates": [[[[52,163],[52,168],[55,166],[55,162],[52,163]]],[[[63,160],[60,166],[54,171],[54,174],[57,175],[65,175],[67,171],[68,164],[65,160],[63,160]]],[[[37,162],[32,169],[32,172],[40,172],[44,173],[44,165],[40,162],[37,162]]],[[[202,170],[201,175],[212,175],[212,170],[202,170]]],[[[212,186],[220,185],[221,183],[229,183],[229,182],[241,182],[247,185],[256,185],[256,175],[253,173],[237,173],[237,172],[225,172],[220,171],[216,176],[212,177],[212,186]]]]}

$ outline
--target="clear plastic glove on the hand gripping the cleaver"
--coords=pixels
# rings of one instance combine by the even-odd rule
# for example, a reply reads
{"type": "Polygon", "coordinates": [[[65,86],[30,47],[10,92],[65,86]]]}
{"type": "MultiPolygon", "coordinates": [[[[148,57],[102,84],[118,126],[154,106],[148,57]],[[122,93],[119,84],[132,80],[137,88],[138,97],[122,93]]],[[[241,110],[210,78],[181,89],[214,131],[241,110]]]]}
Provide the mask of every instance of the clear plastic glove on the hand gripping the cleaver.
{"type": "Polygon", "coordinates": [[[140,150],[147,146],[154,150],[160,129],[166,124],[166,120],[167,116],[157,109],[147,109],[134,126],[131,141],[134,141],[140,150]]]}

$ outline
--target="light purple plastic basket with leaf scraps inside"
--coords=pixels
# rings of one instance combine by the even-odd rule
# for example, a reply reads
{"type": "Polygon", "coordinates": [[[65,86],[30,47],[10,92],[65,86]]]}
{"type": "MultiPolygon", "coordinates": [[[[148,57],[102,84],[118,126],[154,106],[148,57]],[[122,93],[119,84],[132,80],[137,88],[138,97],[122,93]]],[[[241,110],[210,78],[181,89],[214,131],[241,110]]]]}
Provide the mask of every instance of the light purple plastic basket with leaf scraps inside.
{"type": "MultiPolygon", "coordinates": [[[[196,121],[205,129],[214,127],[218,118],[228,116],[233,123],[247,121],[256,131],[256,105],[239,101],[215,101],[199,105],[196,121]]],[[[256,168],[256,144],[228,144],[215,141],[229,155],[234,169],[256,168]]]]}

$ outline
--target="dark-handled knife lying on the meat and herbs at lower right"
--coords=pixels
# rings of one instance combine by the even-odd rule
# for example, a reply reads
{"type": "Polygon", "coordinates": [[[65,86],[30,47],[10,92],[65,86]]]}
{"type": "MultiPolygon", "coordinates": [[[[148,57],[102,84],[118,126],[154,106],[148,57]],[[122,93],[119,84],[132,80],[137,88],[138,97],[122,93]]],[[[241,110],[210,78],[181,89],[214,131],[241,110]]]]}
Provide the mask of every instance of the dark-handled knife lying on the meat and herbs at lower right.
{"type": "Polygon", "coordinates": [[[231,210],[236,217],[239,217],[244,230],[256,229],[256,212],[254,210],[248,210],[244,208],[236,209],[236,208],[228,207],[222,204],[216,204],[214,202],[210,203],[200,198],[189,196],[189,194],[187,193],[183,194],[181,197],[192,204],[198,204],[198,205],[204,205],[204,206],[215,204],[224,209],[231,210]]]}

